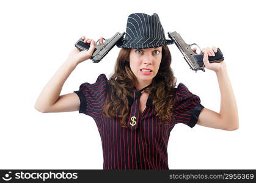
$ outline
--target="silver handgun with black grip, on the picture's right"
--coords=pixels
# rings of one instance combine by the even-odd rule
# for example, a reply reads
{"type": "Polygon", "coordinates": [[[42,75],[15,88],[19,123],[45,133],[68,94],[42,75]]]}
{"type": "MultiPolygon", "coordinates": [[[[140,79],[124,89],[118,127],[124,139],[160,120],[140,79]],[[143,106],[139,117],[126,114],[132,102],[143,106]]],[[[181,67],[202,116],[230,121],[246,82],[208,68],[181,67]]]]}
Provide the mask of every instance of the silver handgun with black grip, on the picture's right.
{"type": "MultiPolygon", "coordinates": [[[[198,70],[202,70],[203,72],[205,72],[205,65],[203,63],[203,52],[196,43],[193,43],[191,45],[186,44],[183,38],[181,38],[180,34],[178,34],[176,31],[168,32],[168,36],[172,41],[174,41],[178,49],[180,49],[181,53],[184,56],[184,59],[193,71],[197,72],[198,70]],[[201,51],[200,54],[197,54],[191,49],[192,45],[196,45],[197,47],[199,47],[201,51]]],[[[218,51],[214,52],[214,54],[215,56],[208,57],[210,63],[222,62],[224,60],[221,49],[218,48],[218,51]]]]}

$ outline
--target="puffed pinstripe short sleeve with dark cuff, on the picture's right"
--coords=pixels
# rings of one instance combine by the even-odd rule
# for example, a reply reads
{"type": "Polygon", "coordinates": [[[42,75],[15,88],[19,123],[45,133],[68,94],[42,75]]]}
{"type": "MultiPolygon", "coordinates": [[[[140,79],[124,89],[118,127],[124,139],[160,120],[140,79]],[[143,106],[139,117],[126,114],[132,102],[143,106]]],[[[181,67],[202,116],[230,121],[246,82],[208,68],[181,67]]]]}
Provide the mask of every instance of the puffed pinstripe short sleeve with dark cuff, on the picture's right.
{"type": "Polygon", "coordinates": [[[180,83],[174,99],[176,123],[184,123],[194,127],[201,110],[204,108],[200,102],[199,96],[191,93],[184,84],[180,83]]]}

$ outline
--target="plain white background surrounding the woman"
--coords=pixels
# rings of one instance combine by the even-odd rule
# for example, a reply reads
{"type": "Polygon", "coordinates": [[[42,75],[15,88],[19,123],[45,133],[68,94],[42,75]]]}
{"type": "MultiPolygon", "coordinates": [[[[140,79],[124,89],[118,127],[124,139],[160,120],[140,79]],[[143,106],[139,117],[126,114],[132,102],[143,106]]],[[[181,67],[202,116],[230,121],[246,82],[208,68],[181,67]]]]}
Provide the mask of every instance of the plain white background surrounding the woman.
{"type": "MultiPolygon", "coordinates": [[[[78,112],[40,113],[35,101],[82,35],[97,40],[124,32],[130,13],[158,13],[167,37],[217,46],[238,104],[240,128],[223,131],[177,124],[170,133],[170,169],[256,168],[255,6],[253,1],[1,1],[0,168],[102,169],[101,139],[91,117],[78,112]]],[[[178,82],[219,112],[216,74],[189,70],[169,46],[178,82]]],[[[87,60],[70,74],[60,95],[112,73],[119,48],[100,63],[87,60]]]]}

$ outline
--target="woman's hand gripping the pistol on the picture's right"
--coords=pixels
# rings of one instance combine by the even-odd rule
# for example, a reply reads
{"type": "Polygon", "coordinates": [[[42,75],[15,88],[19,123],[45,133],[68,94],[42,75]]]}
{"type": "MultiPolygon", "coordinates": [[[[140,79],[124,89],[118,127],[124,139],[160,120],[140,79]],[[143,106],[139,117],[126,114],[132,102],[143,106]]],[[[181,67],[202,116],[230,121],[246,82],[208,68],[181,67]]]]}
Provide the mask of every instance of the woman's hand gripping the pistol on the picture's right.
{"type": "MultiPolygon", "coordinates": [[[[196,48],[193,48],[192,50],[196,52],[196,48]]],[[[224,68],[226,66],[224,60],[220,63],[209,62],[208,56],[215,56],[214,52],[217,52],[217,48],[215,46],[213,46],[212,48],[209,48],[209,47],[203,48],[202,52],[203,52],[203,63],[205,64],[205,67],[208,70],[213,70],[217,73],[221,68],[224,68]]]]}

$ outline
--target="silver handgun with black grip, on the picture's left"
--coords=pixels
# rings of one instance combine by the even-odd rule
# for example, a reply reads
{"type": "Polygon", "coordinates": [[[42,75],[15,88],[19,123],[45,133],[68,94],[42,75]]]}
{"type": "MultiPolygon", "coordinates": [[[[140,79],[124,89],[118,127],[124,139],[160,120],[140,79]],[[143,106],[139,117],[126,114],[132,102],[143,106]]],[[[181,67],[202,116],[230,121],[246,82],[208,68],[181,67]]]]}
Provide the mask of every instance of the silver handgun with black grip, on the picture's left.
{"type": "MultiPolygon", "coordinates": [[[[122,34],[120,32],[117,32],[111,38],[106,39],[106,40],[104,39],[105,40],[104,43],[99,44],[99,45],[97,45],[97,43],[96,43],[92,57],[90,57],[90,59],[93,61],[93,63],[100,62],[100,60],[103,59],[103,57],[106,56],[106,54],[108,54],[108,52],[117,44],[117,42],[123,38],[123,35],[125,35],[125,32],[123,32],[122,34]]],[[[79,40],[76,41],[75,46],[80,51],[88,50],[90,48],[90,44],[84,43],[82,38],[79,38],[79,40]]]]}

